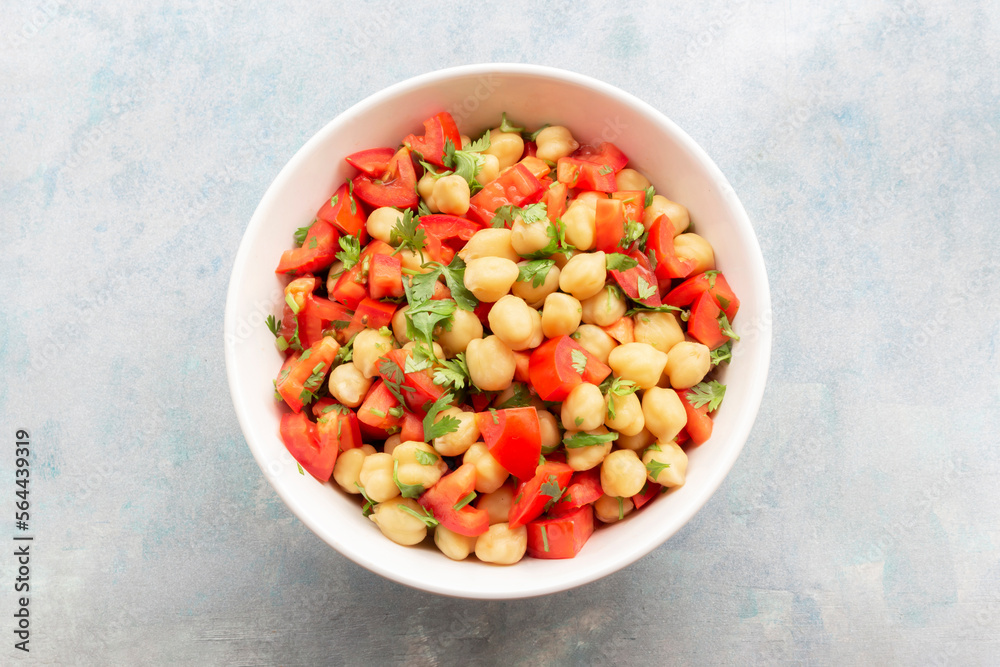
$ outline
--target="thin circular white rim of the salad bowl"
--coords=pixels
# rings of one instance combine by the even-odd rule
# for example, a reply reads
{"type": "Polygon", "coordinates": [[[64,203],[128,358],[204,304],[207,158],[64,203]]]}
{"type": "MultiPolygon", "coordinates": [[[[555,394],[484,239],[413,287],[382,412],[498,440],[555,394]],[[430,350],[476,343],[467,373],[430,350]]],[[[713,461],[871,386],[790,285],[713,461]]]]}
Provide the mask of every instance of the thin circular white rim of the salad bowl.
{"type": "MultiPolygon", "coordinates": [[[[336,132],[341,126],[348,125],[353,122],[366,110],[377,107],[383,104],[386,100],[390,100],[397,95],[452,78],[486,76],[491,74],[527,75],[532,77],[549,78],[580,86],[582,88],[587,88],[601,95],[610,97],[621,104],[636,108],[641,113],[655,118],[657,122],[666,126],[670,133],[672,133],[673,139],[676,140],[684,150],[686,150],[695,160],[697,160],[697,162],[700,163],[701,167],[705,169],[706,173],[711,177],[713,182],[721,186],[720,196],[727,198],[727,204],[732,209],[734,214],[734,219],[731,223],[740,228],[742,236],[746,241],[745,250],[750,254],[748,264],[755,278],[754,284],[756,286],[756,290],[754,296],[760,304],[760,313],[766,314],[767,317],[770,318],[771,298],[767,271],[764,265],[760,244],[757,239],[757,235],[754,232],[753,225],[750,222],[749,216],[747,215],[743,204],[736,196],[732,186],[729,184],[728,179],[726,179],[725,175],[723,175],[722,171],[711,159],[711,157],[709,157],[705,150],[702,149],[701,146],[699,146],[687,134],[687,132],[681,129],[664,113],[647,102],[635,97],[631,93],[621,90],[620,88],[584,74],[545,65],[521,63],[477,63],[426,72],[383,88],[339,113],[322,128],[320,128],[315,134],[313,134],[313,136],[310,137],[305,144],[296,150],[295,154],[278,172],[274,181],[267,187],[267,190],[265,191],[261,201],[254,210],[249,223],[243,231],[239,249],[237,250],[236,257],[233,262],[233,268],[229,278],[229,286],[226,292],[226,306],[223,319],[223,344],[225,348],[226,376],[229,385],[230,397],[236,411],[236,417],[240,425],[240,430],[242,431],[247,442],[247,446],[250,448],[254,460],[257,462],[258,467],[260,467],[261,472],[264,473],[264,477],[268,480],[268,484],[271,488],[278,493],[278,496],[292,511],[292,513],[298,517],[298,519],[302,521],[317,537],[336,549],[338,553],[357,563],[361,567],[375,572],[386,579],[417,590],[470,599],[520,599],[569,590],[577,586],[591,583],[628,567],[629,565],[647,556],[659,546],[665,544],[667,540],[673,537],[678,530],[686,525],[691,518],[708,503],[709,499],[715,495],[715,492],[718,490],[719,486],[721,486],[723,480],[725,480],[728,476],[730,470],[736,462],[736,459],[739,457],[760,410],[770,366],[772,345],[772,331],[770,326],[765,326],[756,330],[759,339],[754,348],[756,359],[753,361],[756,362],[755,365],[758,369],[760,369],[760,372],[749,383],[749,389],[743,401],[743,410],[740,413],[741,418],[734,424],[733,431],[729,435],[729,439],[739,441],[738,446],[728,449],[726,452],[727,455],[724,458],[717,459],[717,466],[713,467],[715,470],[714,474],[709,478],[707,483],[699,488],[696,498],[689,502],[686,507],[681,508],[681,510],[674,515],[675,518],[672,523],[675,527],[670,530],[662,540],[644,544],[638,548],[622,550],[620,552],[622,555],[619,557],[607,559],[606,561],[600,563],[599,566],[585,570],[574,577],[566,579],[559,578],[554,581],[546,581],[545,579],[533,580],[530,582],[530,585],[497,593],[458,589],[450,586],[447,581],[427,581],[418,579],[417,577],[410,576],[405,570],[390,570],[387,567],[382,566],[381,563],[367,561],[363,558],[361,551],[352,549],[349,545],[343,543],[333,543],[330,539],[327,539],[325,536],[329,533],[329,531],[311,518],[314,514],[311,509],[303,502],[300,502],[297,496],[291,492],[290,488],[286,488],[284,485],[274,484],[267,475],[266,466],[268,465],[268,461],[264,460],[262,447],[257,445],[257,435],[249,427],[249,418],[247,415],[248,408],[244,405],[243,401],[237,400],[237,397],[241,396],[243,392],[236,381],[235,368],[237,364],[237,348],[234,342],[236,340],[236,336],[233,335],[238,326],[236,314],[237,306],[235,303],[237,301],[237,293],[239,289],[236,278],[245,270],[245,265],[250,259],[251,248],[248,239],[254,237],[256,235],[256,230],[264,224],[263,209],[266,208],[266,202],[275,197],[276,192],[283,190],[286,187],[287,183],[292,179],[293,174],[299,169],[300,163],[306,160],[307,156],[313,152],[315,147],[323,143],[328,135],[336,132]]],[[[770,322],[768,322],[768,324],[770,324],[770,322]]],[[[747,358],[744,363],[751,363],[751,359],[747,358]]]]}

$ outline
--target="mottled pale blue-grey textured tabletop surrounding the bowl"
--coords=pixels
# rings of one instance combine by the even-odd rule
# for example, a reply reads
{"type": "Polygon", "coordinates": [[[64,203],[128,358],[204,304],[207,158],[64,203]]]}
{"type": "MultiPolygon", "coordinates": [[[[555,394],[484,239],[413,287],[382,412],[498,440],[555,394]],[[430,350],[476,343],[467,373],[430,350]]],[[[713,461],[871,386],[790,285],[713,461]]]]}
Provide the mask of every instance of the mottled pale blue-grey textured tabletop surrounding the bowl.
{"type": "Polygon", "coordinates": [[[4,8],[0,480],[30,430],[32,658],[996,663],[1000,8],[676,5],[4,8]],[[284,162],[362,97],[484,60],[595,76],[685,128],[754,221],[775,311],[709,504],[625,571],[508,603],[313,536],[222,359],[232,258],[284,162]]]}

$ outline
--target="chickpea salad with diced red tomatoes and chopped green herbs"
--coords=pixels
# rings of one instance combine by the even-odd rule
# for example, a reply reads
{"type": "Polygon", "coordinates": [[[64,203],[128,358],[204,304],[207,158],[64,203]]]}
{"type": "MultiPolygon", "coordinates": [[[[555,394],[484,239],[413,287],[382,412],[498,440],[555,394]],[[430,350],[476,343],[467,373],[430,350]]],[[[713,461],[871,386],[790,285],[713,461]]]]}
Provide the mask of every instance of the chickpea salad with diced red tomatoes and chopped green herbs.
{"type": "Polygon", "coordinates": [[[423,126],[347,156],[281,257],[281,439],[398,544],[572,558],[684,484],[739,299],[614,144],[423,126]]]}

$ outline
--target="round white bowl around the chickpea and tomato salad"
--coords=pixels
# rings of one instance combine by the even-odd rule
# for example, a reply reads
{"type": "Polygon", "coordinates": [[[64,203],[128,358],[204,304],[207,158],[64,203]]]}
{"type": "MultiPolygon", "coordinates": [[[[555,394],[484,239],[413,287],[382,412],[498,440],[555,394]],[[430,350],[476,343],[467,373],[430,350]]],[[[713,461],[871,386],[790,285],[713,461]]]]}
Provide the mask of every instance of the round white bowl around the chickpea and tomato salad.
{"type": "Polygon", "coordinates": [[[770,295],[757,238],[726,178],[679,127],[645,102],[594,79],[533,65],[469,65],[396,84],[330,121],[281,170],[257,207],[233,266],[226,301],[229,388],[250,450],[268,481],[310,529],[363,567],[414,588],[468,598],[543,595],[594,581],[664,543],[715,492],[739,455],[760,406],[771,350],[770,295]],[[292,233],[353,173],[344,156],[395,146],[432,114],[452,113],[463,133],[495,126],[500,113],[528,127],[559,123],[581,143],[613,141],[657,192],[691,211],[697,232],[741,300],[742,340],[724,371],[726,399],[712,438],[688,452],[687,483],[597,531],[576,558],[499,567],[454,562],[433,547],[402,547],[361,515],[357,496],[301,474],[278,435],[283,407],[271,380],[281,365],[264,318],[280,311],[274,274],[292,233]]]}

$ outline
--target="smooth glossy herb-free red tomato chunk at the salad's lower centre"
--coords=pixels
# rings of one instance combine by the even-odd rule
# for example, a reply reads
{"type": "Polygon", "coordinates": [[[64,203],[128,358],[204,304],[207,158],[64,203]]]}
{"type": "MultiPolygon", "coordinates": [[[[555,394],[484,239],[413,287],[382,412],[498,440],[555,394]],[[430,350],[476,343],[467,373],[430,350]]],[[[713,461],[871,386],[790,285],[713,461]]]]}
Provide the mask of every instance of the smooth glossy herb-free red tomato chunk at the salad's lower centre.
{"type": "Polygon", "coordinates": [[[533,407],[476,413],[476,426],[497,462],[519,479],[535,474],[542,455],[538,411],[533,407]]]}

